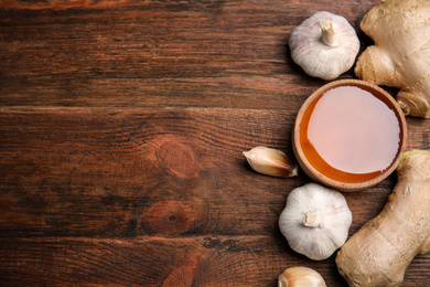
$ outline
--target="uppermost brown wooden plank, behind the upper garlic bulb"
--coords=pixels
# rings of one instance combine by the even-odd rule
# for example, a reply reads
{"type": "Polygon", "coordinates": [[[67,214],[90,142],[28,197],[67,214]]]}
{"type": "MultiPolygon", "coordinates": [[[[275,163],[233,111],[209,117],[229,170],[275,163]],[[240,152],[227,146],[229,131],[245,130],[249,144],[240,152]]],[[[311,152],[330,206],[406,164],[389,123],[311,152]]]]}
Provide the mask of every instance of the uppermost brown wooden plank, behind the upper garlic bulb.
{"type": "Polygon", "coordinates": [[[0,103],[286,109],[324,83],[290,31],[327,7],[358,31],[375,2],[2,1],[0,103]]]}

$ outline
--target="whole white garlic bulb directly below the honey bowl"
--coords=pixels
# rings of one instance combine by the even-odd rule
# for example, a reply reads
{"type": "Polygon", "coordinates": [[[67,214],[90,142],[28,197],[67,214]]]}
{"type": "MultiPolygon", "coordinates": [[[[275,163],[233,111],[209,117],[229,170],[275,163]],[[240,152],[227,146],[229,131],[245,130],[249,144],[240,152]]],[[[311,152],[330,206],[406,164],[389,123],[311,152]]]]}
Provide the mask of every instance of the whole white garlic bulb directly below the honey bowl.
{"type": "Polygon", "coordinates": [[[288,195],[279,228],[293,251],[322,261],[345,243],[352,221],[341,192],[308,183],[288,195]]]}

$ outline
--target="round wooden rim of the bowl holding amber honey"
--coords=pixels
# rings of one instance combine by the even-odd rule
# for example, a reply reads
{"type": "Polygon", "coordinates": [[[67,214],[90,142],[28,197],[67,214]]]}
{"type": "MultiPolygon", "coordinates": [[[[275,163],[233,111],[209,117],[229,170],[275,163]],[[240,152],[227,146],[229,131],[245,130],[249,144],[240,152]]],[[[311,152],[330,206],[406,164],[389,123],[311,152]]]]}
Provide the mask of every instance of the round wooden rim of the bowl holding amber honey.
{"type": "Polygon", "coordinates": [[[386,179],[388,176],[390,176],[399,164],[401,157],[405,152],[407,142],[407,123],[405,118],[405,114],[401,110],[399,104],[396,102],[396,99],[385,89],[381,87],[366,82],[362,79],[338,79],[331,83],[327,83],[316,91],[314,91],[302,104],[300,107],[294,126],[293,126],[293,135],[292,135],[292,149],[294,152],[294,156],[302,168],[302,170],[310,177],[312,180],[318,181],[326,187],[336,189],[338,191],[345,191],[345,192],[353,192],[353,191],[361,191],[370,187],[376,185],[384,179],[386,179]],[[323,93],[340,86],[357,86],[362,88],[366,88],[367,91],[374,93],[375,95],[379,96],[394,111],[396,117],[399,120],[400,126],[400,144],[399,144],[399,150],[396,155],[396,158],[393,160],[391,164],[379,176],[372,178],[366,181],[361,182],[343,182],[334,180],[319,170],[316,170],[307,159],[303,149],[301,147],[300,142],[300,128],[301,128],[301,121],[303,119],[304,113],[308,110],[309,106],[319,98],[323,93]]]}

